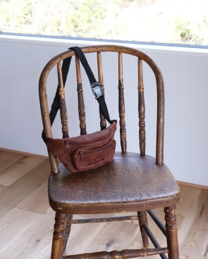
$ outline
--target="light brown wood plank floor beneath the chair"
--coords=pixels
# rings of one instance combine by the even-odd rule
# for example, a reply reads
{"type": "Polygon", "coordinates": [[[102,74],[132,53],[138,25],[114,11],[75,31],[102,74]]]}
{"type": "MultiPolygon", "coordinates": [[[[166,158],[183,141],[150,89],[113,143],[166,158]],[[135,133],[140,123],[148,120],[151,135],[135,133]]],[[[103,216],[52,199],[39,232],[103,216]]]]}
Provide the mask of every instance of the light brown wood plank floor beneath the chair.
{"type": "MultiPolygon", "coordinates": [[[[47,158],[0,149],[1,259],[49,258],[54,211],[49,208],[47,200],[48,176],[47,158]]],[[[180,187],[180,258],[208,258],[208,189],[183,184],[180,187]]],[[[160,210],[157,215],[163,218],[160,210]]],[[[161,239],[159,232],[157,236],[161,239]]],[[[138,246],[141,246],[141,239],[137,221],[104,222],[73,225],[67,251],[87,253],[138,246]]]]}

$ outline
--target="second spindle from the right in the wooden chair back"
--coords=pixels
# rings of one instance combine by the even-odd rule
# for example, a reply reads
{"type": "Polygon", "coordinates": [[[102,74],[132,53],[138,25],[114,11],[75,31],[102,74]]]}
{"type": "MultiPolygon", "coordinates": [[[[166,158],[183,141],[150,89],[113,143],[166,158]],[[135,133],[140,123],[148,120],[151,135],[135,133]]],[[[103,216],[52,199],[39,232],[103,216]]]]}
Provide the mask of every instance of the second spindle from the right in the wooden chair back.
{"type": "Polygon", "coordinates": [[[118,110],[120,118],[120,137],[121,151],[126,153],[126,118],[125,118],[125,101],[124,101],[124,85],[123,85],[123,58],[122,53],[118,53],[118,110]]]}

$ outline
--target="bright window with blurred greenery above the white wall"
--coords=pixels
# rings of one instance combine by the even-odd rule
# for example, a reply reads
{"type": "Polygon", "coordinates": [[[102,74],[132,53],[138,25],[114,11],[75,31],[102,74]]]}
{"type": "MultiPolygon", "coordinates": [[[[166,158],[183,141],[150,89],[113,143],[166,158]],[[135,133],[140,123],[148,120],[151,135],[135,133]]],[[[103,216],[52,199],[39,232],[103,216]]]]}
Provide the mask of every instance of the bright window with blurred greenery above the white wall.
{"type": "Polygon", "coordinates": [[[208,46],[208,0],[0,0],[0,32],[208,46]]]}

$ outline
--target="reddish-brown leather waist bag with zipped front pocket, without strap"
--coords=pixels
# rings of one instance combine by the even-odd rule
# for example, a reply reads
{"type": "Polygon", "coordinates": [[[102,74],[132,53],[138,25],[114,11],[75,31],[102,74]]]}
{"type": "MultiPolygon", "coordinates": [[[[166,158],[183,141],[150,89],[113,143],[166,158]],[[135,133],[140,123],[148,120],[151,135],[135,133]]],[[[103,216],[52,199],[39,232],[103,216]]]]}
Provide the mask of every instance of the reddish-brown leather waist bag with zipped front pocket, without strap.
{"type": "Polygon", "coordinates": [[[47,139],[47,148],[70,172],[99,168],[114,159],[116,122],[104,130],[66,139],[47,139]]]}

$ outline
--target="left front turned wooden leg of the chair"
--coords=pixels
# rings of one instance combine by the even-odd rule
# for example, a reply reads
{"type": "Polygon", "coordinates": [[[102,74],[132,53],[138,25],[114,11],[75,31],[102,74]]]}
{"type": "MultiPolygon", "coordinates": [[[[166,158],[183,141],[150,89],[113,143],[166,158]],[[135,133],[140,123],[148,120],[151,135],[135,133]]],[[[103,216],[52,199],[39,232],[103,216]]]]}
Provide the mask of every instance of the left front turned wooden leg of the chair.
{"type": "Polygon", "coordinates": [[[66,214],[56,213],[54,236],[51,248],[51,259],[61,259],[63,254],[64,236],[66,231],[66,214]]]}

